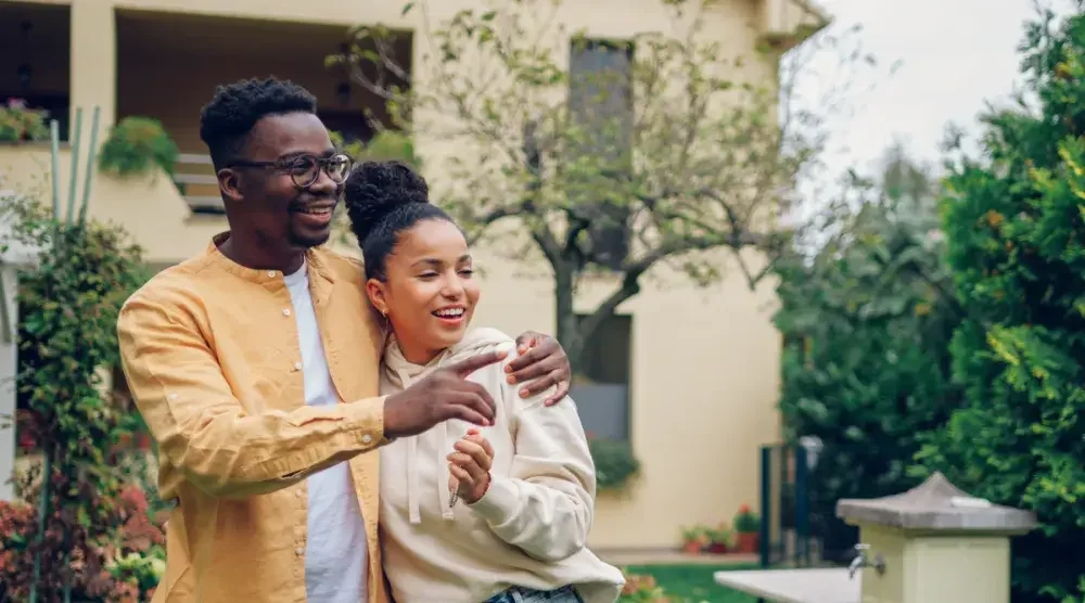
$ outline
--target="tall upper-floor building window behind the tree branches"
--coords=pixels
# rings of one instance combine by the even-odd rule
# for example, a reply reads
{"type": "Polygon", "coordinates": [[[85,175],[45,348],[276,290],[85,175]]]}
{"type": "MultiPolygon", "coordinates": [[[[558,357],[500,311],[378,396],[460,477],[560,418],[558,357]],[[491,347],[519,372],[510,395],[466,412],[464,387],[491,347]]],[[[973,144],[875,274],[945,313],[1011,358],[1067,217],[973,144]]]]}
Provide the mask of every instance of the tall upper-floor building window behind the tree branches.
{"type": "MultiPolygon", "coordinates": [[[[603,175],[623,180],[631,168],[633,46],[628,42],[576,38],[571,42],[569,110],[586,136],[573,153],[601,159],[603,175]]],[[[598,185],[585,188],[600,190],[598,185]]],[[[622,204],[579,200],[593,259],[617,270],[629,253],[629,210],[622,204]]]]}

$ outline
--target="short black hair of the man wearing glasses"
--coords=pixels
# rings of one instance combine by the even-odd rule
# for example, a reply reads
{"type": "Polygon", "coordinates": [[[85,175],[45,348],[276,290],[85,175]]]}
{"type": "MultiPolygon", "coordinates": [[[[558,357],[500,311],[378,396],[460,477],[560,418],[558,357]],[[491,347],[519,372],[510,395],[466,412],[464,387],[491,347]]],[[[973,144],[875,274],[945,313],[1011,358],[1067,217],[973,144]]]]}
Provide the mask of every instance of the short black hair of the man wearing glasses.
{"type": "Polygon", "coordinates": [[[215,88],[200,111],[200,139],[215,169],[239,158],[253,126],[267,115],[316,113],[317,98],[293,81],[275,77],[242,79],[215,88]]]}

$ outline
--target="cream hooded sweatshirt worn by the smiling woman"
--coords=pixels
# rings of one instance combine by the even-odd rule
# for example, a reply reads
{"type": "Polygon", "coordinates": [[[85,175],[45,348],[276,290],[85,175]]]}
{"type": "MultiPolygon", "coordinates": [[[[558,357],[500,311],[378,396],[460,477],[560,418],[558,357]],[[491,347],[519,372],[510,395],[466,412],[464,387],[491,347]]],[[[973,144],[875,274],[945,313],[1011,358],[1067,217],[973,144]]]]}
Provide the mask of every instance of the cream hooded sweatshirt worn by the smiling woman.
{"type": "MultiPolygon", "coordinates": [[[[474,329],[425,367],[388,343],[381,394],[399,392],[434,369],[514,342],[474,329]]],[[[452,444],[473,425],[441,423],[381,448],[381,541],[396,603],[482,603],[512,586],[538,590],[574,585],[586,603],[613,603],[624,578],[591,553],[596,473],[573,400],[545,407],[547,394],[521,398],[505,381],[505,362],[468,379],[497,403],[482,428],[494,447],[490,486],[475,504],[448,506],[452,444]]]]}

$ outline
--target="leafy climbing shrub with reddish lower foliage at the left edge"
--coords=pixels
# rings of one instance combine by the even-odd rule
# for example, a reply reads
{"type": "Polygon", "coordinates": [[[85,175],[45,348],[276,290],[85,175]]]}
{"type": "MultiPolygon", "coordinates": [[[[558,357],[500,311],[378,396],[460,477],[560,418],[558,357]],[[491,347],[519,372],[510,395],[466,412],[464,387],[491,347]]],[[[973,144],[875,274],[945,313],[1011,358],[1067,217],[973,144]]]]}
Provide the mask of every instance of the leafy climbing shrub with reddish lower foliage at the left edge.
{"type": "Polygon", "coordinates": [[[122,412],[103,394],[100,369],[117,362],[117,313],[143,278],[139,248],[118,228],[62,222],[17,196],[0,201],[0,216],[13,238],[42,251],[20,277],[17,387],[43,457],[17,484],[34,521],[3,535],[4,551],[17,554],[0,582],[15,600],[31,590],[39,601],[135,600],[138,588],[118,586],[106,565],[161,543],[161,533],[142,493],[115,471],[122,412]]]}

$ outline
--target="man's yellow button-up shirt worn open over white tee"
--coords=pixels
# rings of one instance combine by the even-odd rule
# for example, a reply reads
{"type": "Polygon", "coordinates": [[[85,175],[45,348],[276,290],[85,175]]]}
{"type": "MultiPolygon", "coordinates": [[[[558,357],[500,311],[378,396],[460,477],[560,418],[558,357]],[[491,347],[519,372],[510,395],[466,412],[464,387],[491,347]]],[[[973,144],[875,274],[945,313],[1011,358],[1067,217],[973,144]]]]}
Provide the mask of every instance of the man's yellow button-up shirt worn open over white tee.
{"type": "Polygon", "coordinates": [[[159,493],[176,499],[156,602],[304,602],[305,478],[349,459],[369,549],[370,603],[387,594],[376,538],[386,444],[384,336],[359,262],[307,253],[310,293],[343,403],[307,407],[290,292],[276,270],[217,247],[128,299],[117,330],[129,388],[158,442],[159,493]],[[359,454],[360,452],[360,454],[359,454]]]}

